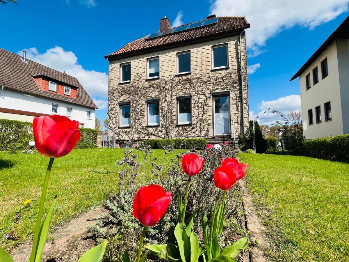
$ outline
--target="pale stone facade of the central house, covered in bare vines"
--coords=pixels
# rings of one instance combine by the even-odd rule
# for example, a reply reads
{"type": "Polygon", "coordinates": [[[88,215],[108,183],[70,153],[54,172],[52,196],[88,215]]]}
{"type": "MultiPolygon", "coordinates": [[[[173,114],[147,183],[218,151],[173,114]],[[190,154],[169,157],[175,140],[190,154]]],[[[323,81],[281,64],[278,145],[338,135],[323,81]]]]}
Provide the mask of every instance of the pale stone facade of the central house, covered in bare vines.
{"type": "MultiPolygon", "coordinates": [[[[245,35],[242,36],[244,123],[248,126],[245,35]]],[[[239,34],[109,61],[109,130],[119,140],[211,138],[213,95],[230,93],[230,130],[242,133],[239,34]],[[212,46],[228,45],[228,68],[212,69],[212,46]],[[177,53],[191,52],[191,73],[176,75],[177,53]],[[147,59],[159,57],[159,78],[147,79],[147,59]],[[120,64],[131,62],[131,82],[120,83],[120,64]],[[178,96],[192,97],[192,124],[177,124],[178,96]],[[147,126],[147,100],[159,99],[160,125],[147,126]],[[131,126],[120,127],[120,102],[131,103],[131,126]]]]}

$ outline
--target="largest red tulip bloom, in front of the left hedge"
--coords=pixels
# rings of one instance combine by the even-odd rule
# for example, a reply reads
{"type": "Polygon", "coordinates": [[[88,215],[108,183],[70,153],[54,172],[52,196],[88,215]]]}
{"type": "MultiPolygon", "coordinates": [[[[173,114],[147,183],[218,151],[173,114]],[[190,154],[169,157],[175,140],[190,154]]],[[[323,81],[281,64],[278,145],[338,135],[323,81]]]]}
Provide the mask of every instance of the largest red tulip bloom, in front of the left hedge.
{"type": "Polygon", "coordinates": [[[35,146],[44,157],[64,157],[73,150],[80,139],[79,122],[66,116],[34,117],[35,146]]]}

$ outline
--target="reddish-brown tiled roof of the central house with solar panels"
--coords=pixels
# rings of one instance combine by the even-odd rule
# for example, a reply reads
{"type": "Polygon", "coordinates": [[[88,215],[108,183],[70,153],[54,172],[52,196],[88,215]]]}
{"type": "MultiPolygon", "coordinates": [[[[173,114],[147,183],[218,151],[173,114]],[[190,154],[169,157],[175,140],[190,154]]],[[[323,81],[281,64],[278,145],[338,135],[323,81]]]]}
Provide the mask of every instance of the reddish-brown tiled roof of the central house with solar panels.
{"type": "MultiPolygon", "coordinates": [[[[174,32],[164,36],[147,39],[147,36],[136,41],[128,43],[118,51],[105,56],[111,58],[119,54],[132,53],[134,51],[148,50],[162,45],[170,45],[178,42],[186,42],[191,39],[208,37],[211,35],[221,34],[227,31],[249,28],[250,24],[244,16],[220,16],[217,23],[205,27],[193,28],[185,31],[174,32]]],[[[173,28],[172,28],[173,30],[173,28]]],[[[185,43],[184,43],[185,44],[185,43]]]]}

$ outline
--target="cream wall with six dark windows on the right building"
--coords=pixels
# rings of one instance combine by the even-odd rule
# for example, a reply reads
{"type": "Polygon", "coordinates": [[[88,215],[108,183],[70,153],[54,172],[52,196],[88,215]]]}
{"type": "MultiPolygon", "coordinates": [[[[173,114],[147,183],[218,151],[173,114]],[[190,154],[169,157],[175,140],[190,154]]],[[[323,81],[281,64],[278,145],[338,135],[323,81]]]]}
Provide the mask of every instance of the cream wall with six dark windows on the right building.
{"type": "Polygon", "coordinates": [[[336,41],[300,75],[300,96],[302,101],[303,134],[306,139],[337,136],[343,134],[340,82],[336,41]],[[327,57],[328,76],[322,79],[321,61],[327,57]],[[314,85],[312,70],[318,66],[319,82],[314,85]],[[311,88],[306,90],[305,77],[310,73],[311,88]],[[332,120],[325,121],[324,103],[331,101],[332,120]],[[320,105],[321,123],[316,123],[315,107],[320,105]],[[308,110],[313,109],[313,124],[309,125],[308,110]]]}

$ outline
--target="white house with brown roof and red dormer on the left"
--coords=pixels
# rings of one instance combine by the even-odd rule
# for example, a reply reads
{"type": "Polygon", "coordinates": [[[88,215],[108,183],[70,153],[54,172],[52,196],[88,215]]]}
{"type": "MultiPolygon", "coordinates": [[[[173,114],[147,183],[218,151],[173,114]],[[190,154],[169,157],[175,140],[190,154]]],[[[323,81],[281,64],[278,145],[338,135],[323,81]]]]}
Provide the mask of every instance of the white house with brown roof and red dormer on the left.
{"type": "Polygon", "coordinates": [[[95,109],[75,77],[0,49],[0,118],[32,122],[58,114],[94,129],[95,109]]]}

